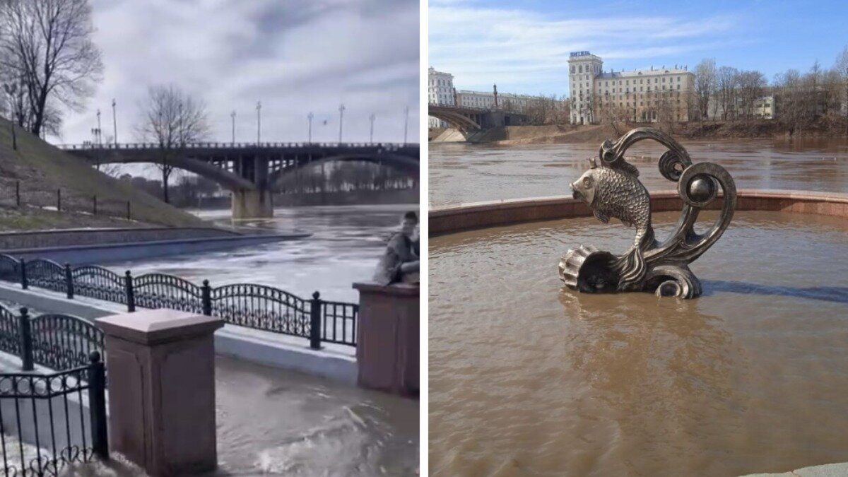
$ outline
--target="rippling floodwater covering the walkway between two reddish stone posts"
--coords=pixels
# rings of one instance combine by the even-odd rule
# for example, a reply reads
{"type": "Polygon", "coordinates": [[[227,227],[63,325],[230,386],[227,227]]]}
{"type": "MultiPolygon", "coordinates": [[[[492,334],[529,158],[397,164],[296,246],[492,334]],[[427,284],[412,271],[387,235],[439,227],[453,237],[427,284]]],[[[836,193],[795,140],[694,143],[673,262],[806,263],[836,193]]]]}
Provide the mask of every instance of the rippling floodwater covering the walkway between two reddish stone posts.
{"type": "Polygon", "coordinates": [[[217,356],[216,475],[416,475],[418,401],[217,356]]]}

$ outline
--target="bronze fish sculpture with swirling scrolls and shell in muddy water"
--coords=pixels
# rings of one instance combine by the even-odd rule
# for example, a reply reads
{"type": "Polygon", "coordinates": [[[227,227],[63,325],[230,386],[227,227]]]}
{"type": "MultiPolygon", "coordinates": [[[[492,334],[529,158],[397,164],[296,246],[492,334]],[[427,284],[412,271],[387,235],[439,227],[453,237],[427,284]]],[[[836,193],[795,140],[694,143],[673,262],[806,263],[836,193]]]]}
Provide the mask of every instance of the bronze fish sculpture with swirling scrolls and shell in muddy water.
{"type": "Polygon", "coordinates": [[[700,281],[689,270],[695,261],[722,236],[734,216],[736,186],[722,166],[710,162],[693,164],[686,149],[665,132],[640,127],[611,143],[607,140],[591,168],[572,182],[575,199],[581,199],[601,222],[616,217],[628,227],[636,227],[633,246],[623,255],[580,245],[568,250],[560,261],[560,278],[570,289],[587,293],[612,291],[653,291],[658,296],[695,298],[701,294],[700,281]],[[629,164],[624,153],[634,143],[653,139],[668,150],[661,155],[662,177],[677,182],[683,200],[680,220],[672,235],[663,242],[654,238],[650,223],[650,196],[639,170],[629,164]],[[700,210],[718,197],[722,189],[722,210],[706,233],[695,233],[700,210]]]}

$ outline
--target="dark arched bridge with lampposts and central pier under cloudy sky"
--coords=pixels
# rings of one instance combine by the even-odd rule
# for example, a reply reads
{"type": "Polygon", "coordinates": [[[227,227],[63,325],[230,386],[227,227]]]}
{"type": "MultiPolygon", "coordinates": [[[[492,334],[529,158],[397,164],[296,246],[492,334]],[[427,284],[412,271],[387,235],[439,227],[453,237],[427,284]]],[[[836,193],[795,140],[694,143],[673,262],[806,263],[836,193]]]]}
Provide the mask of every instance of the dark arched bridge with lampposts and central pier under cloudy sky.
{"type": "MultiPolygon", "coordinates": [[[[158,143],[60,144],[95,164],[163,163],[158,143]]],[[[187,143],[170,149],[166,163],[232,191],[233,218],[274,215],[271,189],[282,174],[318,161],[366,161],[419,174],[419,145],[399,143],[187,143]]]]}

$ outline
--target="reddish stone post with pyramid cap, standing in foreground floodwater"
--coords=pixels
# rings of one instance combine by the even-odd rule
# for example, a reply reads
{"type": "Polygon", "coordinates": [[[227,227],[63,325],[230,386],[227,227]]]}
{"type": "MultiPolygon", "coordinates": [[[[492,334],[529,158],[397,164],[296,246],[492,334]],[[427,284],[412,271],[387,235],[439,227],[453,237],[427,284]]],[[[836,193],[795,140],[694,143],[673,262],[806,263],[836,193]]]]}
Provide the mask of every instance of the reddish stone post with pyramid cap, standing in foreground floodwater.
{"type": "Polygon", "coordinates": [[[112,449],[153,476],[215,469],[213,334],[224,322],[143,310],[95,323],[106,334],[112,449]]]}

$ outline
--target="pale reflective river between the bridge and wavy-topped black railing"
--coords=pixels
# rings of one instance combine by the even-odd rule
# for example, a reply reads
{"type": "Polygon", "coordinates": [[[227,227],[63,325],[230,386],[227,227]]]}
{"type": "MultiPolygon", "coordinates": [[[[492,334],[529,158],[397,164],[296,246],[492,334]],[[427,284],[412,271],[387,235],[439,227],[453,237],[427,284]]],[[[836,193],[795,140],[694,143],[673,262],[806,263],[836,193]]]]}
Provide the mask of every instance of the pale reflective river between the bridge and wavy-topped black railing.
{"type": "Polygon", "coordinates": [[[220,227],[308,232],[308,239],[260,244],[236,250],[167,256],[109,264],[136,275],[163,272],[213,286],[261,283],[302,297],[318,290],[326,300],[358,301],[352,283],[369,280],[400,217],[418,205],[341,205],[277,209],[274,218],[232,222],[230,210],[198,212],[220,227]]]}

